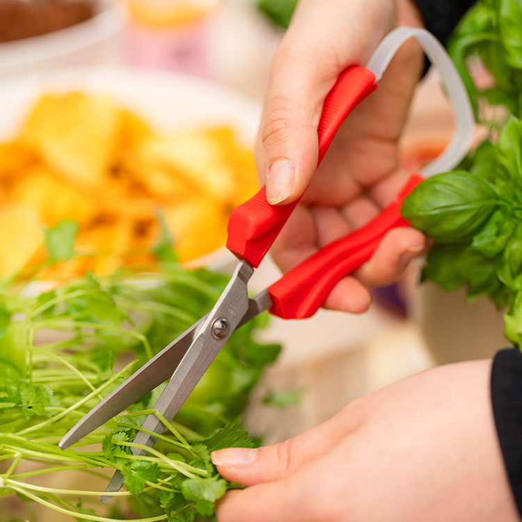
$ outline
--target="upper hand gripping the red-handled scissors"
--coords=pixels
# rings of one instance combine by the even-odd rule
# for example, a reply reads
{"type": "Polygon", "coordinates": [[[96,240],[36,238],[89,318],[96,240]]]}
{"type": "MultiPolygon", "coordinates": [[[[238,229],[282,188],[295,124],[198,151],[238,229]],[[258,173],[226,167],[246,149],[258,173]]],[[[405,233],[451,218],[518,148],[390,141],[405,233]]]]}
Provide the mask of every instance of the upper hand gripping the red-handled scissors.
{"type": "MultiPolygon", "coordinates": [[[[397,141],[424,65],[414,41],[403,45],[377,91],[350,114],[315,173],[324,97],[342,70],[367,63],[383,36],[405,24],[422,26],[411,0],[299,1],[272,65],[256,152],[269,203],[291,203],[310,184],[272,249],[284,272],[370,221],[408,177],[398,168],[397,141]]],[[[325,306],[365,311],[371,301],[365,285],[397,280],[424,248],[420,232],[390,231],[325,306]]]]}

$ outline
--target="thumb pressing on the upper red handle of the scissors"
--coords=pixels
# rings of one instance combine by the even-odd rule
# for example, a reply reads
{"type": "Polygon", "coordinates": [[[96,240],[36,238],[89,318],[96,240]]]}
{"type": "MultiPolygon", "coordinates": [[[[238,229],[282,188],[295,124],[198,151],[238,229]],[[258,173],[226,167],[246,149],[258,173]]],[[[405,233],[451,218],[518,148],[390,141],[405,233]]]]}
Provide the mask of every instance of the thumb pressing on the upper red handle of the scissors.
{"type": "Polygon", "coordinates": [[[317,168],[324,98],[348,65],[365,63],[393,26],[389,0],[299,1],[274,56],[258,141],[271,205],[292,203],[317,168]],[[369,5],[371,4],[371,5],[369,5]]]}

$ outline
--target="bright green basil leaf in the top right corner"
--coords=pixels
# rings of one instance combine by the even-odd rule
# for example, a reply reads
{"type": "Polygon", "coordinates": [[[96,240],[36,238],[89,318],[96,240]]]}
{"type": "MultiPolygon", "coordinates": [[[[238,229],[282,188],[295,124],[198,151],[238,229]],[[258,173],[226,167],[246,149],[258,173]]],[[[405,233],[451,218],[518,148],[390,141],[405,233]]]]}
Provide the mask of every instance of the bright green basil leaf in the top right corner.
{"type": "Polygon", "coordinates": [[[522,69],[522,2],[500,0],[498,32],[507,63],[522,69]]]}

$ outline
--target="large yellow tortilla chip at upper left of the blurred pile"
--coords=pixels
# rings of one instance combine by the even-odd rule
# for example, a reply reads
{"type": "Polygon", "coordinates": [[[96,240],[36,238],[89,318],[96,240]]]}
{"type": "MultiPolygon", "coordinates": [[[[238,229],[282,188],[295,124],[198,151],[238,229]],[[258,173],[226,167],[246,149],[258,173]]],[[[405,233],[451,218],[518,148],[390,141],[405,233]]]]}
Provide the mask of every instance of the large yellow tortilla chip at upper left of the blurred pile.
{"type": "Polygon", "coordinates": [[[109,97],[46,94],[29,114],[21,139],[52,171],[100,187],[113,158],[119,122],[120,111],[109,97]]]}

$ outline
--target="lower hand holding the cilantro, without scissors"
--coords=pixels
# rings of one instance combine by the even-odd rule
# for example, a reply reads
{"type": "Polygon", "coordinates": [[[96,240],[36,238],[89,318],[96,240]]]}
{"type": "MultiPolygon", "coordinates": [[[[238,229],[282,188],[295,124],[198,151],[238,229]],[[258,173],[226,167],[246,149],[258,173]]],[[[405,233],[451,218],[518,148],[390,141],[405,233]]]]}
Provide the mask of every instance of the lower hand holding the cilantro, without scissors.
{"type": "Polygon", "coordinates": [[[515,522],[489,398],[491,361],[423,372],[258,450],[212,454],[219,522],[515,522]]]}

